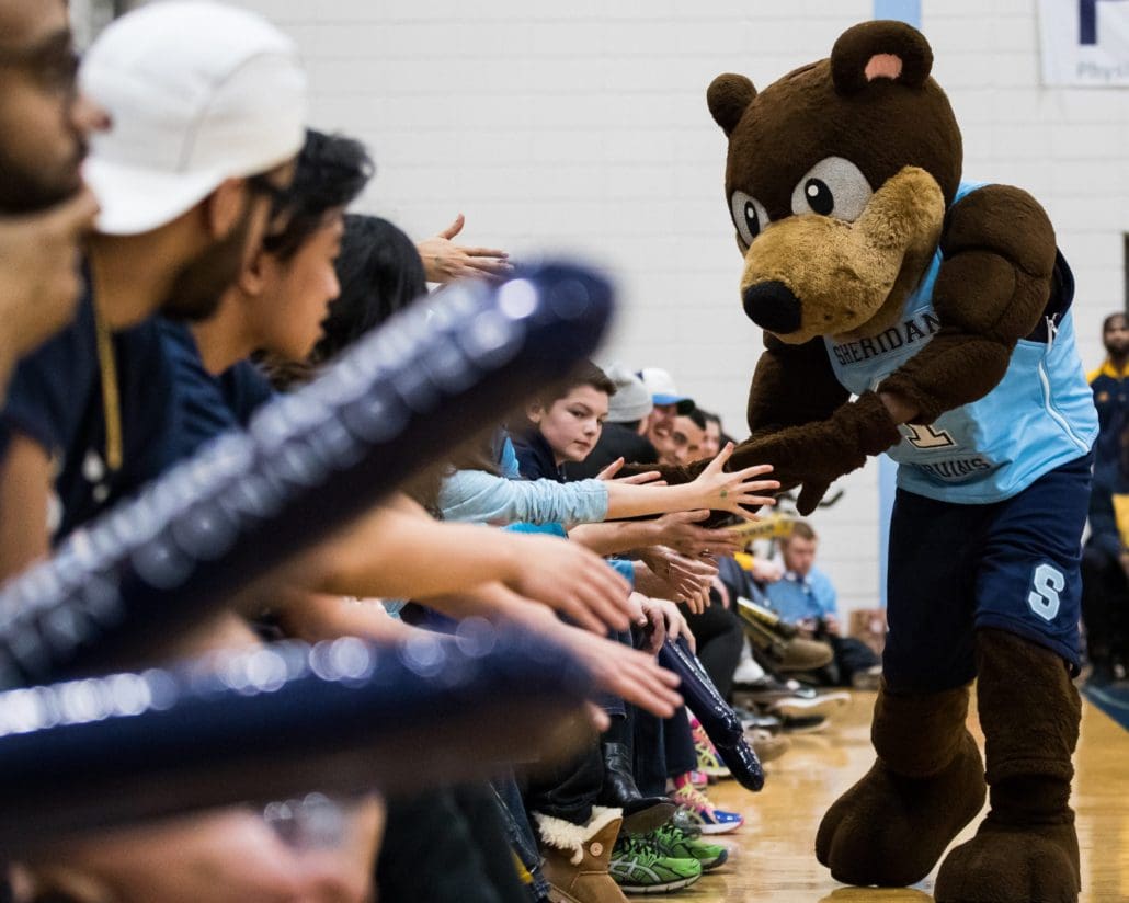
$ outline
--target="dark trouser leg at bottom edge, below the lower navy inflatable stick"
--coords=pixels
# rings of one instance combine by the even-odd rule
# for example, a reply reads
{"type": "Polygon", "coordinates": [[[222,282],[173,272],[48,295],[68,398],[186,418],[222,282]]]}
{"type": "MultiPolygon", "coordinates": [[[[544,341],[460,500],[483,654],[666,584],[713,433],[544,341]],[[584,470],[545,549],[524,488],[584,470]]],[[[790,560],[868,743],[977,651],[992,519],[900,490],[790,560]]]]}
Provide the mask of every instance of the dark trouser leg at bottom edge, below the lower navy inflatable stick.
{"type": "Polygon", "coordinates": [[[390,799],[376,869],[380,903],[528,903],[489,786],[390,799]]]}

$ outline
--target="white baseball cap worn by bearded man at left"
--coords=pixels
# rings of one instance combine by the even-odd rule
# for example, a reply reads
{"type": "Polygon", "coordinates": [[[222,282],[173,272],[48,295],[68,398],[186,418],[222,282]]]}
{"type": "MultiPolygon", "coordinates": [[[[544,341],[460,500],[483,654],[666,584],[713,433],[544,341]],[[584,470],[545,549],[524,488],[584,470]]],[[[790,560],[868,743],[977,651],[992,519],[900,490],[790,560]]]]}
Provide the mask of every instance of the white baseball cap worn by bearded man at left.
{"type": "Polygon", "coordinates": [[[166,0],[123,16],[85,54],[79,88],[111,120],[84,168],[97,228],[111,235],[164,226],[225,179],[286,163],[305,139],[294,42],[217,2],[166,0]]]}

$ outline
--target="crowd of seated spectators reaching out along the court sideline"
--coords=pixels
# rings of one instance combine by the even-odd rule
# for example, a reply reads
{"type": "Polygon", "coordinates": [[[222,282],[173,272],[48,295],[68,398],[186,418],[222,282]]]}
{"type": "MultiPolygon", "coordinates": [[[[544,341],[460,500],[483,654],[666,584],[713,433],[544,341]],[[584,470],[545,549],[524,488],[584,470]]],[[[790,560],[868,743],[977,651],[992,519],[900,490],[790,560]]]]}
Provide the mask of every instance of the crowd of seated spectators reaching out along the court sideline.
{"type": "MultiPolygon", "coordinates": [[[[510,271],[505,251],[455,240],[462,214],[414,243],[347,213],[373,177],[369,152],[307,129],[295,47],[250,12],[146,7],[79,64],[64,0],[0,0],[0,72],[6,579],[245,428],[428,283],[510,271]]],[[[391,799],[369,788],[332,804],[331,844],[287,842],[251,807],[61,839],[9,862],[6,892],[614,901],[721,866],[709,838],[744,818],[709,799],[727,769],[655,656],[682,638],[723,696],[744,689],[739,713],[765,760],[782,752],[779,731],[817,726],[834,694],[789,683],[788,656],[826,639],[833,660],[807,676],[829,684],[873,676],[876,660],[841,635],[833,590],[804,563],[814,533],[795,527],[779,572],[764,555],[739,563],[747,540],[704,521],[770,510],[778,484],[768,467],[726,471],[720,420],[657,367],[583,362],[482,426],[243,611],[167,638],[161,660],[278,638],[396,642],[470,616],[513,623],[594,676],[578,753],[391,799]],[[677,485],[646,470],[694,462],[709,463],[677,485]],[[750,642],[741,607],[758,599],[778,616],[758,622],[768,646],[750,642]]]]}

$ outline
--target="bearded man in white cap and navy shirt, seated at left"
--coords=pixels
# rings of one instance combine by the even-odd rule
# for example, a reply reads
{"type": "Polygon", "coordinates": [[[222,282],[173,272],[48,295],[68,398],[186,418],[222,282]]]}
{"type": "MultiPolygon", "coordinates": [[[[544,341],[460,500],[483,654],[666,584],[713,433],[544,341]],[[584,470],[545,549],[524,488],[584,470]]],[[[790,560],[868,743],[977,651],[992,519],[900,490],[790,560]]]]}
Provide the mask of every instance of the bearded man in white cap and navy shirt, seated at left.
{"type": "Polygon", "coordinates": [[[75,322],[20,363],[2,414],[0,499],[24,516],[0,521],[0,575],[161,472],[175,430],[172,374],[149,317],[211,314],[292,174],[306,89],[294,45],[250,14],[209,10],[138,10],[85,60],[84,89],[112,119],[85,170],[100,204],[97,233],[75,322]],[[230,19],[233,41],[209,54],[216,87],[201,91],[192,41],[207,41],[211,26],[174,40],[164,20],[191,29],[211,11],[230,19]],[[151,46],[126,52],[137,40],[151,46]],[[205,113],[224,104],[229,131],[205,113]]]}

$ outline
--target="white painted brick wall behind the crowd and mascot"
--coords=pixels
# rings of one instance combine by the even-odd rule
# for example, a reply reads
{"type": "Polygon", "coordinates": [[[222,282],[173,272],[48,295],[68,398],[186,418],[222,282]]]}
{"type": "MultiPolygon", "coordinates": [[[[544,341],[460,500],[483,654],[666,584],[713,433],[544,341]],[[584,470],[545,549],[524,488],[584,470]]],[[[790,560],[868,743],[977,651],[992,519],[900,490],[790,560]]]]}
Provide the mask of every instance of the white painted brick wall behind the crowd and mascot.
{"type": "MultiPolygon", "coordinates": [[[[736,291],[721,198],[725,141],[706,109],[719,72],[765,85],[825,56],[869,0],[240,0],[306,55],[314,124],[369,142],[361,207],[423,237],[456,212],[467,242],[570,251],[620,281],[606,357],[664,365],[735,432],[760,347],[736,291]]],[[[935,74],[970,177],[1030,190],[1078,279],[1087,366],[1124,303],[1129,90],[1039,86],[1034,0],[924,0],[935,74]]],[[[869,465],[821,515],[847,608],[874,604],[869,465]]]]}

